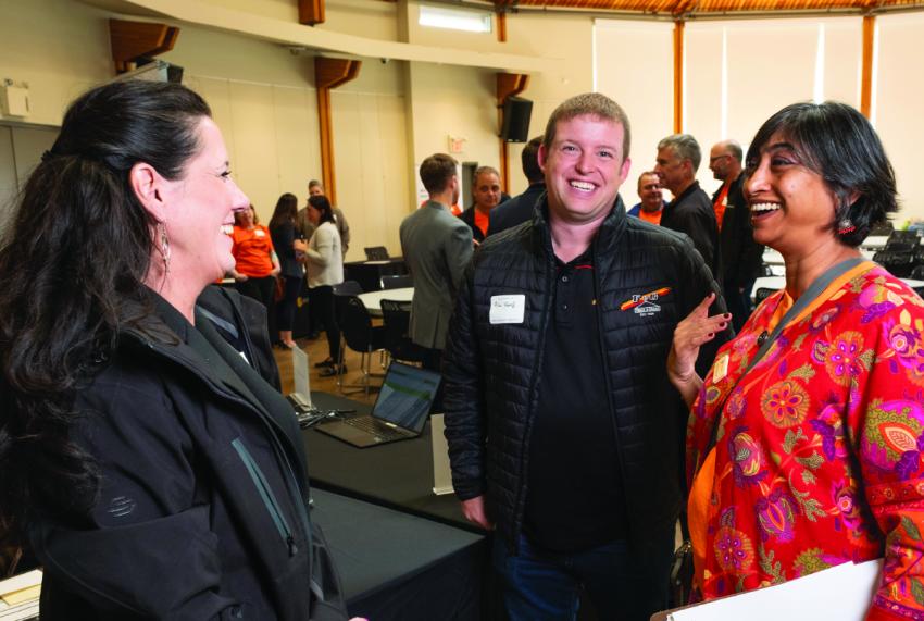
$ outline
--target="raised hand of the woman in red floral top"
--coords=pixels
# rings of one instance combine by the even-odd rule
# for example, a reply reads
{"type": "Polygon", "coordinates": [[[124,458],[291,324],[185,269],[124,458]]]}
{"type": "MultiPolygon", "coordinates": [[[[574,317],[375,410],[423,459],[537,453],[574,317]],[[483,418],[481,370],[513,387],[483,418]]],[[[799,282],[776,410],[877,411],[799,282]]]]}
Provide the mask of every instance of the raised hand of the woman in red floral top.
{"type": "Polygon", "coordinates": [[[702,378],[696,374],[699,348],[715,338],[716,333],[725,330],[732,319],[728,313],[709,316],[709,307],[713,301],[715,294],[711,293],[677,324],[671,353],[667,356],[667,378],[679,390],[688,407],[692,406],[702,386],[702,378]]]}

